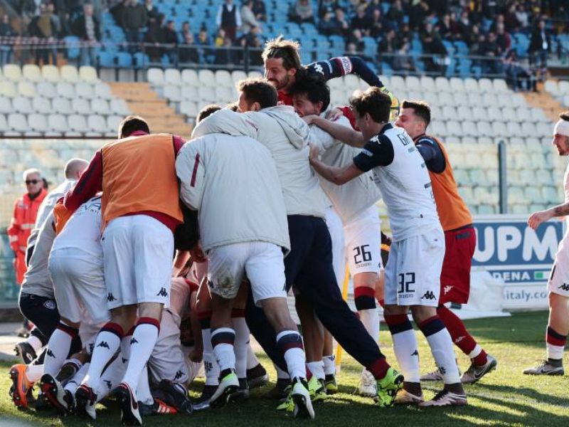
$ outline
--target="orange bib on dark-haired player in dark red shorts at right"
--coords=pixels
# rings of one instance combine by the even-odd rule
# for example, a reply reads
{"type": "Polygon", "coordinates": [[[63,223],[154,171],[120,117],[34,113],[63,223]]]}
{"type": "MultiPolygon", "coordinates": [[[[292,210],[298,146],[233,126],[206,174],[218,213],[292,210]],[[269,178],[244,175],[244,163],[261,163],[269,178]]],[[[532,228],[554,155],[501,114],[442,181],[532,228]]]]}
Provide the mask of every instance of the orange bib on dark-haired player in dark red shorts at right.
{"type": "Polygon", "coordinates": [[[472,224],[472,215],[470,214],[467,204],[464,203],[464,200],[462,200],[462,197],[458,193],[457,182],[454,181],[452,166],[450,165],[445,146],[440,139],[431,136],[428,137],[435,139],[442,155],[445,157],[446,166],[444,171],[440,174],[429,171],[432,182],[432,194],[435,196],[437,213],[439,214],[442,229],[444,231],[450,231],[472,224]]]}

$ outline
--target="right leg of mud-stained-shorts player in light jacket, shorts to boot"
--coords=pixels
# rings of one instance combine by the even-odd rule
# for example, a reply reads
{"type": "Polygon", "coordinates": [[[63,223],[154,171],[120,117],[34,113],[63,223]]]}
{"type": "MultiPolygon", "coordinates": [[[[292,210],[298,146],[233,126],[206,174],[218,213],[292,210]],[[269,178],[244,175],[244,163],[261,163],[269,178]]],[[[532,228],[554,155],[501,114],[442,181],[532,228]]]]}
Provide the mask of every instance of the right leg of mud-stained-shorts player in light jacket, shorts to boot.
{"type": "MultiPolygon", "coordinates": [[[[306,381],[306,358],[302,337],[290,317],[285,290],[285,264],[281,249],[272,243],[255,242],[250,245],[250,256],[245,270],[251,283],[255,304],[262,306],[270,327],[277,334],[277,346],[284,354],[292,379],[291,396],[294,416],[314,418],[314,409],[306,381]]],[[[317,357],[321,358],[320,347],[317,357]]]]}

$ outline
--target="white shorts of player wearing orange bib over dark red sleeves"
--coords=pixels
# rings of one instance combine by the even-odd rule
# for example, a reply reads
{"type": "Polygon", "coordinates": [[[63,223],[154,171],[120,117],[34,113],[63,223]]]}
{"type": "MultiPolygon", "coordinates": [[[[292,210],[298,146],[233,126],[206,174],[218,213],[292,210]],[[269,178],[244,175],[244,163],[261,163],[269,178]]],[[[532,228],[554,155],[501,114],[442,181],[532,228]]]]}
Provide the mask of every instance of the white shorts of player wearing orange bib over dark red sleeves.
{"type": "Polygon", "coordinates": [[[167,305],[174,235],[147,215],[121,216],[102,235],[105,283],[110,310],[141,302],[167,305]]]}

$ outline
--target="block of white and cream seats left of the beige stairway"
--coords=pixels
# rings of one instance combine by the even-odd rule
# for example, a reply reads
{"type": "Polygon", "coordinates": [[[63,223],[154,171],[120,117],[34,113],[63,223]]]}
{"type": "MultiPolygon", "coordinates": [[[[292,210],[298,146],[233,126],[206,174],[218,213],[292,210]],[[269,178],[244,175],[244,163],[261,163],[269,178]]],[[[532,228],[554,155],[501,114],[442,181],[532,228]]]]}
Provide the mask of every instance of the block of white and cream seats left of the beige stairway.
{"type": "Polygon", "coordinates": [[[0,136],[114,136],[110,117],[129,113],[92,67],[6,64],[0,73],[0,136]]]}

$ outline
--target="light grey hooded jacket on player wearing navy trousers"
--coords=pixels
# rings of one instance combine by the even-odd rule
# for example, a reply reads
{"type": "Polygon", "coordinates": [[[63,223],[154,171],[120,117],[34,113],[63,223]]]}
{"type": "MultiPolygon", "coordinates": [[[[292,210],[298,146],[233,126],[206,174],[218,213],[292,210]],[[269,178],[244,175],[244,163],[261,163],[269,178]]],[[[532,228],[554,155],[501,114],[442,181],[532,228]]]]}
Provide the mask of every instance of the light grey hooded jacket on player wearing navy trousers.
{"type": "Polygon", "coordinates": [[[278,105],[258,112],[220,110],[200,122],[192,138],[210,133],[245,135],[269,149],[277,165],[287,215],[324,218],[327,200],[308,156],[308,125],[292,107],[278,105]]]}

